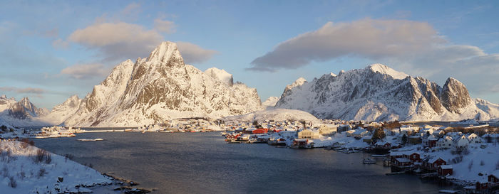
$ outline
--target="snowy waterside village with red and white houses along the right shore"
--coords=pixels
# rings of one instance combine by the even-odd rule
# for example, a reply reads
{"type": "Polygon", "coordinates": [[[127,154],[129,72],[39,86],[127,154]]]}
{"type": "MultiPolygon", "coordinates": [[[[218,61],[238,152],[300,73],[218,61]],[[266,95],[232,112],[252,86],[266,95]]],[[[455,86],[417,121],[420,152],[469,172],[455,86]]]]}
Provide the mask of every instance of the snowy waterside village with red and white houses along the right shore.
{"type": "MultiPolygon", "coordinates": [[[[291,149],[324,148],[341,153],[370,153],[390,166],[387,175],[413,173],[450,181],[462,190],[442,193],[493,193],[499,188],[499,130],[473,119],[438,124],[321,120],[227,122],[222,132],[233,143],[267,143],[291,149]]],[[[360,161],[359,161],[360,162],[360,161]]]]}

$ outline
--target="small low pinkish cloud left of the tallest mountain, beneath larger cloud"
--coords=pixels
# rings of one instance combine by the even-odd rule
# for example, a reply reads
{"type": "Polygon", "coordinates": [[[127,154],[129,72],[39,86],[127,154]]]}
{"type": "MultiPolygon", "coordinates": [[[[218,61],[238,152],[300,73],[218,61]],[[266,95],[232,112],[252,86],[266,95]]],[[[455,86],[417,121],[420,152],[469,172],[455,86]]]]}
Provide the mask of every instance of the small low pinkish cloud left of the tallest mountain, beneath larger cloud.
{"type": "Polygon", "coordinates": [[[61,74],[69,75],[78,80],[90,79],[91,77],[106,76],[110,72],[109,68],[105,65],[92,63],[92,64],[76,64],[61,70],[61,74]]]}

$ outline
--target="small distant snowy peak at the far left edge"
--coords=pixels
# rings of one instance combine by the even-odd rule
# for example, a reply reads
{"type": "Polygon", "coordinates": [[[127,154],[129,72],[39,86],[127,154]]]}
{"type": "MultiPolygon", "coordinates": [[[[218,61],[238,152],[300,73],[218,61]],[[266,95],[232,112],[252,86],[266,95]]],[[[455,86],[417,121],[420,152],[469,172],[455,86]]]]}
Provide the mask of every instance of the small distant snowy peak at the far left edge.
{"type": "Polygon", "coordinates": [[[7,98],[5,95],[0,97],[0,120],[4,124],[11,126],[42,126],[45,122],[39,121],[39,117],[46,116],[48,109],[37,108],[24,97],[19,102],[13,97],[7,98]]]}

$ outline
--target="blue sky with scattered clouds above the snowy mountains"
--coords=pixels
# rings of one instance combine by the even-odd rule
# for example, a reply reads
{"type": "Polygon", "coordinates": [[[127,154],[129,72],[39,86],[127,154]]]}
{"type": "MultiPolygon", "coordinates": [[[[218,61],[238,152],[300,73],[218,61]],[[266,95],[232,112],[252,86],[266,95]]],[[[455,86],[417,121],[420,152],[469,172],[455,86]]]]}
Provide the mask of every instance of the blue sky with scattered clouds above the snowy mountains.
{"type": "Polygon", "coordinates": [[[262,101],[383,63],[499,103],[499,1],[0,1],[0,95],[38,107],[85,97],[162,41],[262,101]]]}

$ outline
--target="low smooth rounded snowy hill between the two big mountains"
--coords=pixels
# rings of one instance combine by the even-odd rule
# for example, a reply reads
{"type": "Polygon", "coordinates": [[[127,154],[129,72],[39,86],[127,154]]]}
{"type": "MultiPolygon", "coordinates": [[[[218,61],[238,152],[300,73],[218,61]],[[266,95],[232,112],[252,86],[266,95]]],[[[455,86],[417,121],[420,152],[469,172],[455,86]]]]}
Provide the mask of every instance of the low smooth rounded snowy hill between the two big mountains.
{"type": "Polygon", "coordinates": [[[317,124],[321,123],[321,121],[317,119],[317,117],[314,117],[314,115],[297,109],[267,109],[243,115],[225,117],[223,119],[225,121],[239,121],[239,122],[252,122],[254,120],[258,121],[304,120],[307,122],[312,122],[317,124]]]}

